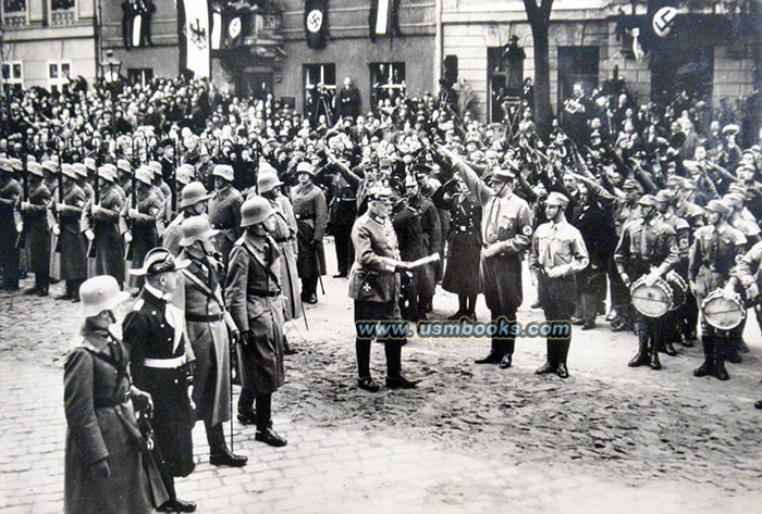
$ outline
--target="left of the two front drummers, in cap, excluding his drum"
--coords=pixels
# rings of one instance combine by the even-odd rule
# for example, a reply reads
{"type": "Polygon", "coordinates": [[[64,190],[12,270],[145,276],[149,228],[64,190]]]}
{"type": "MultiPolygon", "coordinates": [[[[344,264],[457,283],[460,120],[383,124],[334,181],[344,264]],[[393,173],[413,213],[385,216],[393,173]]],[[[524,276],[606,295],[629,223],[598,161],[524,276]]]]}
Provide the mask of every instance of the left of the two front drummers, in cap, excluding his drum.
{"type": "MultiPolygon", "coordinates": [[[[675,229],[659,216],[656,199],[652,195],[644,195],[638,205],[640,220],[624,227],[614,252],[616,269],[628,288],[640,279],[641,284],[653,286],[679,261],[675,229]]],[[[662,368],[659,361],[663,331],[660,322],[661,318],[637,314],[638,353],[629,362],[630,367],[649,364],[651,369],[662,368]]]]}

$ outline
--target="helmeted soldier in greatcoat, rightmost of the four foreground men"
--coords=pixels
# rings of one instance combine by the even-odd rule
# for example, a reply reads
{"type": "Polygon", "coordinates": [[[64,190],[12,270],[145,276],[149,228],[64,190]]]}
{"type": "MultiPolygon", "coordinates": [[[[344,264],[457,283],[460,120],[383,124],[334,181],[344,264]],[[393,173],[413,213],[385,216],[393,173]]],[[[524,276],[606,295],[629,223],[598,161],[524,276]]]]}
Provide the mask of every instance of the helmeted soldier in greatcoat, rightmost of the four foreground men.
{"type": "Polygon", "coordinates": [[[241,208],[244,235],[235,241],[225,283],[225,300],[241,334],[242,389],[238,419],[257,426],[255,439],[273,447],[286,440],[272,429],[272,393],[284,383],[282,259],[271,234],[275,210],[261,197],[241,208]],[[256,404],[256,411],[255,411],[256,404]]]}

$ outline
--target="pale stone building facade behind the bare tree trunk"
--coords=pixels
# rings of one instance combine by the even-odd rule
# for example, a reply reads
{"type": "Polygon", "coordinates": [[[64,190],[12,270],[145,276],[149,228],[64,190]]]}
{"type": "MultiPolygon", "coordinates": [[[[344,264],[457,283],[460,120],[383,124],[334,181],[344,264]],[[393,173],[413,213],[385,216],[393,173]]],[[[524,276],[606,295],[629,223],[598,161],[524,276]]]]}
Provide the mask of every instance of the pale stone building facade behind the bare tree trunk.
{"type": "MultiPolygon", "coordinates": [[[[737,32],[738,13],[721,2],[691,12],[679,9],[677,28],[646,55],[632,52],[623,21],[646,22],[647,2],[555,0],[550,24],[551,104],[558,110],[575,83],[589,93],[616,74],[640,101],[669,98],[693,89],[717,108],[754,87],[760,37],[737,32]]],[[[711,3],[711,2],[704,2],[711,3]]],[[[500,88],[505,83],[503,52],[512,36],[525,49],[524,76],[533,77],[533,45],[521,0],[442,0],[442,55],[456,55],[458,76],[476,92],[479,115],[500,121],[500,88]]],[[[626,24],[624,24],[626,25],[626,24]]],[[[677,25],[676,25],[677,27],[677,25]]],[[[759,33],[759,32],[758,32],[759,33]]]]}

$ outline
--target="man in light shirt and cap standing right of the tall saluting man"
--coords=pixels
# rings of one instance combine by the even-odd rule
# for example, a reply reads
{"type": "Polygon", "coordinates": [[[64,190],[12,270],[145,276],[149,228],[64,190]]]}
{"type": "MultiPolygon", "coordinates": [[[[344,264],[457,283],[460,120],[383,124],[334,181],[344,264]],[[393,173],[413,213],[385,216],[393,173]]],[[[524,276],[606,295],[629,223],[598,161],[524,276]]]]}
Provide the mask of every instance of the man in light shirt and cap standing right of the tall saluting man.
{"type": "Polygon", "coordinates": [[[555,373],[568,378],[566,358],[572,343],[572,324],[577,300],[575,274],[589,264],[582,235],[568,224],[564,214],[569,200],[551,192],[544,201],[549,220],[537,228],[529,251],[529,267],[538,271],[538,297],[548,322],[567,322],[568,337],[548,338],[545,364],[538,375],[555,373]]]}

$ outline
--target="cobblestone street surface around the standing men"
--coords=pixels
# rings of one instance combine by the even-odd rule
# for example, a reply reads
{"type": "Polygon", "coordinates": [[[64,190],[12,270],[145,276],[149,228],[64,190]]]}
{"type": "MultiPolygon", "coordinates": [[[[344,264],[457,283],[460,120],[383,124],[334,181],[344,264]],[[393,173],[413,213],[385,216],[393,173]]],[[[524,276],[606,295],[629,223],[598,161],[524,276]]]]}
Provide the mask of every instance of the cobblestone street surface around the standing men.
{"type": "MultiPolygon", "coordinates": [[[[692,377],[698,347],[663,356],[662,372],[628,368],[635,337],[599,323],[575,331],[566,381],[533,374],[544,340],[517,341],[514,367],[501,371],[472,364],[486,340],[414,339],[403,366],[425,378],[419,388],[369,394],[356,387],[347,283],[327,277],[324,285],[327,296],[307,310],[310,330],[302,321],[288,329],[299,353],[287,359],[286,385],[273,397],[274,426],[288,446],[255,442],[254,427],[235,423],[235,450],[249,464],[217,468],[198,424],[196,471],[179,480],[181,498],[197,501],[198,512],[759,509],[762,411],[752,404],[762,398],[762,343],[753,316],[751,353],[728,366],[727,383],[692,377]]],[[[541,319],[528,297],[519,321],[541,319]]],[[[438,293],[431,317],[455,306],[438,293]]],[[[5,294],[0,313],[0,511],[61,512],[61,368],[77,306],[5,294]]],[[[372,359],[383,380],[381,348],[372,359]]]]}

